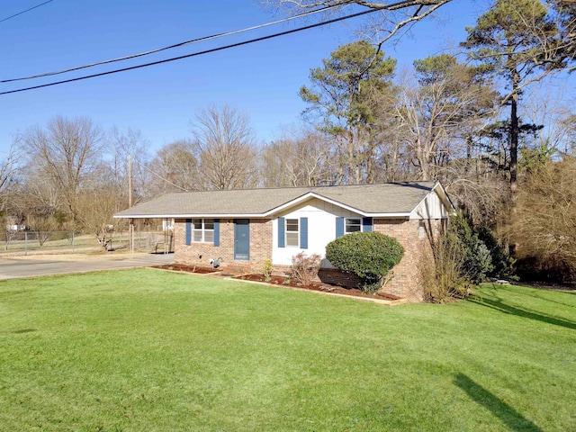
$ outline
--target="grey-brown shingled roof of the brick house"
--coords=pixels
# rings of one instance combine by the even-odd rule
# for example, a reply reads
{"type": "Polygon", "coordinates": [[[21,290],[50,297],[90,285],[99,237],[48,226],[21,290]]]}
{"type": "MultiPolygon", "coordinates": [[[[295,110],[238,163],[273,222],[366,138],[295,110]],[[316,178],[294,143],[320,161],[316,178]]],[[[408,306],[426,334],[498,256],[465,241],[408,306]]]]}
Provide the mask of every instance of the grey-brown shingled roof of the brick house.
{"type": "Polygon", "coordinates": [[[311,197],[366,216],[407,215],[436,188],[446,196],[442,186],[435,182],[167,193],[121,211],[114,217],[271,217],[276,211],[311,197]]]}

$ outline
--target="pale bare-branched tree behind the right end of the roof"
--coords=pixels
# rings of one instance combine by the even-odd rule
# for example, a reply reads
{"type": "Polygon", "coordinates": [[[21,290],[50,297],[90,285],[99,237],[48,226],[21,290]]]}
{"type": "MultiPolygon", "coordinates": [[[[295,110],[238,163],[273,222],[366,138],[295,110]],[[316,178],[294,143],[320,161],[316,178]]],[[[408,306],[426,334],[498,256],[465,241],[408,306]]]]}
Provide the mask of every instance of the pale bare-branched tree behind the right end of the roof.
{"type": "MultiPolygon", "coordinates": [[[[445,180],[455,159],[470,161],[469,136],[491,115],[494,92],[474,67],[443,54],[414,62],[418,83],[401,85],[396,118],[419,180],[445,180]]],[[[464,173],[460,173],[462,175],[464,173]]]]}

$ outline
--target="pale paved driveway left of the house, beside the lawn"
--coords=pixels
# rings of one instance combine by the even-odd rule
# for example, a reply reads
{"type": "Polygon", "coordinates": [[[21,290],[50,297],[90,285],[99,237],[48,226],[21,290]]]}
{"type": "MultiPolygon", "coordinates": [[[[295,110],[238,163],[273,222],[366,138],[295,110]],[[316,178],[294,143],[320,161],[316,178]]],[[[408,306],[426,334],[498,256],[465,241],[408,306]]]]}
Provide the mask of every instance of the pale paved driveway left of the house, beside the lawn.
{"type": "Polygon", "coordinates": [[[0,280],[19,277],[64,275],[68,273],[85,273],[99,270],[116,270],[159,266],[174,262],[174,254],[142,254],[130,257],[25,257],[0,258],[0,280]]]}

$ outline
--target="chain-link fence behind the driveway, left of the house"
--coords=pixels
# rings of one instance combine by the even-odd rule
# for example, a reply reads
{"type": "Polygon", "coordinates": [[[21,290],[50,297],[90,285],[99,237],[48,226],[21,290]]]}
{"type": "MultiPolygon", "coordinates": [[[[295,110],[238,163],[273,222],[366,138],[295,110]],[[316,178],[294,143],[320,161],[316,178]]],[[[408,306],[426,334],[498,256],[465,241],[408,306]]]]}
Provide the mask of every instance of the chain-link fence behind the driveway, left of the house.
{"type": "MultiPolygon", "coordinates": [[[[174,233],[171,230],[134,231],[135,252],[152,254],[174,252],[174,233]]],[[[78,231],[4,230],[0,238],[0,256],[29,254],[89,254],[104,250],[129,250],[128,230],[114,231],[107,247],[98,243],[94,235],[78,231]]]]}

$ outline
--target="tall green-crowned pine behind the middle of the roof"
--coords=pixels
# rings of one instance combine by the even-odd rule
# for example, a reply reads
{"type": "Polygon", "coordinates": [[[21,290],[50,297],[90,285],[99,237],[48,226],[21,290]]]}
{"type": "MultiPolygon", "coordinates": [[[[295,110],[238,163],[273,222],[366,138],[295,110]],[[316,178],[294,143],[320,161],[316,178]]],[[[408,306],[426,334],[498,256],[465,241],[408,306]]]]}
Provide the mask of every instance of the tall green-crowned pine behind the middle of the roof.
{"type": "Polygon", "coordinates": [[[336,49],[311,69],[300,95],[320,131],[337,148],[338,183],[374,182],[375,155],[385,107],[392,107],[396,61],[365,40],[336,49]]]}

